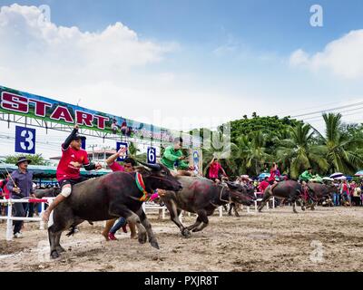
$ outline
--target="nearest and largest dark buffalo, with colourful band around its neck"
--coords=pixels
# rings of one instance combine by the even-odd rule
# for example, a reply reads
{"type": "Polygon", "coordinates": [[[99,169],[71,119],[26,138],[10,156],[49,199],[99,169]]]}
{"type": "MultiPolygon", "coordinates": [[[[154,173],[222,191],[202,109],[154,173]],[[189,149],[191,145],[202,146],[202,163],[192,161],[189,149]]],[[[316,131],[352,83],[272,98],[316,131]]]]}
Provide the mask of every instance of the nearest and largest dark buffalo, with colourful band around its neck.
{"type": "MultiPolygon", "coordinates": [[[[148,165],[149,169],[138,169],[142,174],[148,192],[154,189],[178,191],[182,185],[170,170],[161,164],[148,165]]],[[[142,210],[142,191],[136,185],[136,172],[113,172],[97,179],[89,179],[76,184],[72,195],[59,204],[53,212],[53,225],[48,227],[51,256],[56,258],[64,248],[60,238],[64,230],[74,228],[88,221],[101,221],[123,217],[136,224],[139,231],[139,242],[146,243],[147,237],[152,247],[159,248],[152,226],[142,210]]],[[[52,219],[52,218],[51,218],[52,219]]]]}

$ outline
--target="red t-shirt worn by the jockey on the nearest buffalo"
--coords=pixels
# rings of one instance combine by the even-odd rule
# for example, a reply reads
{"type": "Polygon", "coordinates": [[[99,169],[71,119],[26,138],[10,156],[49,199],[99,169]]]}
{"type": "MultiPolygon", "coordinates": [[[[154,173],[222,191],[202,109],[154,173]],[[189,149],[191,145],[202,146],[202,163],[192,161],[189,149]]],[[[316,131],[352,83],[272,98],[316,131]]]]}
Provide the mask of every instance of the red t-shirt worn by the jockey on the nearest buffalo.
{"type": "Polygon", "coordinates": [[[62,158],[56,171],[58,181],[64,179],[79,179],[82,166],[90,164],[86,150],[74,150],[71,146],[66,150],[62,147],[62,158]]]}

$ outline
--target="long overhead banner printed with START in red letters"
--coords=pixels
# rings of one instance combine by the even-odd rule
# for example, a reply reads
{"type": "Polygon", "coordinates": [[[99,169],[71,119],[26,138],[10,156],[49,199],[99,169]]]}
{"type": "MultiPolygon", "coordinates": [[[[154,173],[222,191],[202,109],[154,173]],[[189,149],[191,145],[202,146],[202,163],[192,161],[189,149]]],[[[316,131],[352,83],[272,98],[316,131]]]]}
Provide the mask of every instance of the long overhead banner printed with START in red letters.
{"type": "MultiPolygon", "coordinates": [[[[172,142],[181,133],[150,124],[128,120],[121,116],[88,110],[65,102],[20,92],[0,86],[0,111],[28,118],[52,121],[65,125],[78,124],[83,129],[103,131],[132,138],[172,142]]],[[[184,146],[200,147],[199,138],[182,133],[184,146]]]]}

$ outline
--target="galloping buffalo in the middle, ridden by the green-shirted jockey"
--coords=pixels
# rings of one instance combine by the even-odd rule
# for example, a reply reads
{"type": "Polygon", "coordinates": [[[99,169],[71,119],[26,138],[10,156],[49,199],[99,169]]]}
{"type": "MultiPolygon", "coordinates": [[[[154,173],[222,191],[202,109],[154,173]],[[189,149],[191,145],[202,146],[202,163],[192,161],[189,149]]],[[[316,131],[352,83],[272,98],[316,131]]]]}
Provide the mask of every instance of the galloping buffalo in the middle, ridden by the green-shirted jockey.
{"type": "Polygon", "coordinates": [[[208,217],[213,214],[216,208],[230,203],[239,202],[250,206],[254,200],[248,195],[239,192],[240,186],[228,183],[216,185],[210,179],[198,177],[178,177],[182,184],[179,192],[167,191],[162,196],[162,201],[168,208],[172,221],[180,228],[182,236],[191,236],[190,231],[198,232],[209,224],[208,217]],[[184,227],[179,219],[182,210],[196,213],[198,218],[191,227],[184,227]]]}

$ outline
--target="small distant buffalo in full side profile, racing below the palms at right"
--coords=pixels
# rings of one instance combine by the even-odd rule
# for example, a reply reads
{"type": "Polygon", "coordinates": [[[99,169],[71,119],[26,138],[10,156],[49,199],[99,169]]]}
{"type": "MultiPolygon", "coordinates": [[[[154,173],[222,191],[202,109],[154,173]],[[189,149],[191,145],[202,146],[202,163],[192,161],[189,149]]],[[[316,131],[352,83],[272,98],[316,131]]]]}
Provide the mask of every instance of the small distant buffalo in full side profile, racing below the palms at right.
{"type": "Polygon", "coordinates": [[[301,205],[301,209],[305,210],[305,206],[304,206],[304,201],[301,198],[301,194],[302,194],[302,186],[301,184],[299,184],[298,181],[295,180],[286,180],[286,181],[281,181],[276,185],[272,186],[272,194],[270,192],[271,187],[268,187],[265,190],[265,194],[264,197],[261,201],[260,207],[259,207],[259,211],[262,211],[262,208],[265,207],[266,203],[270,200],[271,197],[276,197],[276,198],[289,198],[289,202],[292,203],[293,205],[293,211],[295,213],[298,213],[296,208],[295,208],[295,202],[299,201],[300,205],[301,205]]]}

